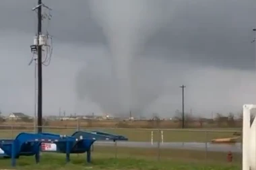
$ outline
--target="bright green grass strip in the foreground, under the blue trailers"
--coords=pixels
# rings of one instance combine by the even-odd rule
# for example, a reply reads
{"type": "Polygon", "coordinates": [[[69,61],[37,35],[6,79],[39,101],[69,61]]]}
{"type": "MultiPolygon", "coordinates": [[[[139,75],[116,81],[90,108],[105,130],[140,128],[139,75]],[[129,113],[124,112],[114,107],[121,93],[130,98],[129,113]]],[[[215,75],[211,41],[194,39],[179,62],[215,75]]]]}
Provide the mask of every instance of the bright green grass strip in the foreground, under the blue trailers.
{"type": "MultiPolygon", "coordinates": [[[[154,159],[139,157],[118,157],[111,154],[93,153],[92,163],[86,163],[84,155],[72,155],[71,162],[65,163],[65,156],[56,153],[42,153],[41,161],[36,165],[34,157],[20,157],[15,169],[27,170],[238,170],[240,163],[213,163],[207,161],[184,161],[168,159],[156,161],[154,159]]],[[[14,169],[10,167],[9,159],[0,159],[1,169],[14,169]]]]}

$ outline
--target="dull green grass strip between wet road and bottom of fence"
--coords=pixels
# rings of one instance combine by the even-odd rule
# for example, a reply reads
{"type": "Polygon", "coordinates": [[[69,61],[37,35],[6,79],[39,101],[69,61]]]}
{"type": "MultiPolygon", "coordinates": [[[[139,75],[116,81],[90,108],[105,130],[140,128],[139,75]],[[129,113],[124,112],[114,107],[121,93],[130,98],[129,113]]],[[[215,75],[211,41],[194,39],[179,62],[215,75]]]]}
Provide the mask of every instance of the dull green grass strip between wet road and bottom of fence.
{"type": "MultiPolygon", "coordinates": [[[[178,161],[207,161],[212,163],[227,163],[225,152],[195,151],[176,148],[130,148],[118,146],[94,146],[92,152],[119,157],[143,157],[152,160],[178,160],[178,161]]],[[[241,153],[232,153],[233,163],[242,163],[241,153]]]]}

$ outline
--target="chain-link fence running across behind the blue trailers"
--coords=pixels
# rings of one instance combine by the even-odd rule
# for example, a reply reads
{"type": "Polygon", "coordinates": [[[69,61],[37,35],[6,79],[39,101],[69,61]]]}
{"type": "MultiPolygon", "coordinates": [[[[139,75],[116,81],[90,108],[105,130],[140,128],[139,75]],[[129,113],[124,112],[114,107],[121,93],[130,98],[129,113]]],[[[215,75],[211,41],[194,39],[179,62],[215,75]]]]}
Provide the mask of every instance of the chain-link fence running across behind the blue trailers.
{"type": "MultiPolygon", "coordinates": [[[[43,132],[72,135],[77,130],[98,130],[119,134],[129,141],[96,141],[92,153],[103,157],[147,157],[148,159],[193,159],[226,162],[229,152],[241,163],[241,130],[85,128],[43,126],[43,132]],[[230,140],[228,142],[228,140],[230,140]]],[[[15,138],[20,132],[36,132],[35,126],[0,126],[1,138],[15,138]]]]}

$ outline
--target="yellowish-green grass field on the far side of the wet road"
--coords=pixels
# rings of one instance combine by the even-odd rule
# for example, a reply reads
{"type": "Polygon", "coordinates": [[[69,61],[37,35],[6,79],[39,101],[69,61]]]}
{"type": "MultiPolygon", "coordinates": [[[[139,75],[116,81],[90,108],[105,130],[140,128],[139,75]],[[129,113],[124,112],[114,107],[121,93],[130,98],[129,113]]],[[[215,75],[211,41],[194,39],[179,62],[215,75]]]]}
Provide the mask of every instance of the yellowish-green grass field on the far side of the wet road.
{"type": "MultiPolygon", "coordinates": [[[[86,130],[97,130],[97,129],[86,129],[86,130]]],[[[151,135],[153,132],[154,142],[161,140],[161,130],[136,130],[136,129],[98,129],[99,131],[110,132],[114,134],[121,134],[129,138],[129,141],[137,142],[150,142],[151,135]]],[[[26,132],[34,132],[34,130],[25,130],[26,132]]],[[[44,132],[53,132],[58,134],[73,134],[76,129],[73,128],[44,128],[44,132]]],[[[228,138],[233,136],[233,132],[241,131],[236,130],[226,130],[224,129],[208,129],[208,132],[205,130],[162,130],[163,131],[163,140],[164,142],[210,142],[214,138],[228,138]],[[218,130],[216,132],[210,132],[213,130],[218,130]]],[[[1,138],[14,138],[22,130],[0,130],[1,138]]]]}

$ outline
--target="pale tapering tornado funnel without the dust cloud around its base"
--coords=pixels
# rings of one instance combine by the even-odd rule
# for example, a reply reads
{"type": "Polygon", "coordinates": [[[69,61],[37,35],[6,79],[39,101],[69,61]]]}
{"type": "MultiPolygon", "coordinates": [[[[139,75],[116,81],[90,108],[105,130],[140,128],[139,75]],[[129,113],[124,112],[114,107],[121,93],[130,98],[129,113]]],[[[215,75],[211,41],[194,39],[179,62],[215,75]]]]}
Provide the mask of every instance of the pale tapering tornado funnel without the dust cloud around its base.
{"type": "MultiPolygon", "coordinates": [[[[89,0],[92,18],[107,38],[117,79],[116,106],[127,114],[137,103],[137,89],[131,62],[150,36],[170,22],[170,1],[154,0],[89,0]]],[[[107,90],[107,89],[106,89],[107,90]]],[[[147,91],[150,93],[149,91],[147,91]]],[[[148,95],[154,96],[156,95],[148,95]]],[[[146,101],[152,101],[147,99],[146,101]]],[[[100,105],[105,105],[101,100],[100,105]]],[[[144,104],[145,105],[145,104],[144,104]]]]}

